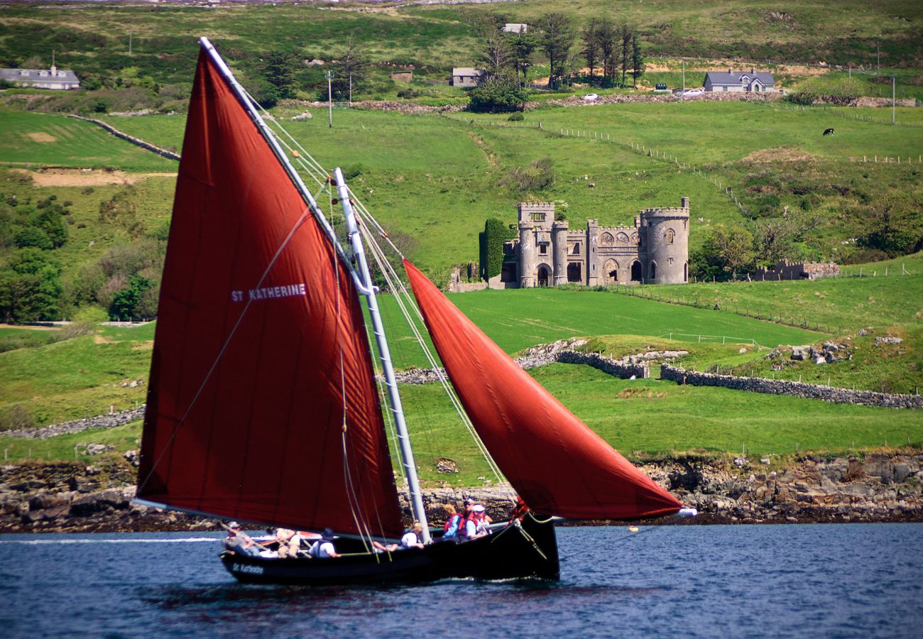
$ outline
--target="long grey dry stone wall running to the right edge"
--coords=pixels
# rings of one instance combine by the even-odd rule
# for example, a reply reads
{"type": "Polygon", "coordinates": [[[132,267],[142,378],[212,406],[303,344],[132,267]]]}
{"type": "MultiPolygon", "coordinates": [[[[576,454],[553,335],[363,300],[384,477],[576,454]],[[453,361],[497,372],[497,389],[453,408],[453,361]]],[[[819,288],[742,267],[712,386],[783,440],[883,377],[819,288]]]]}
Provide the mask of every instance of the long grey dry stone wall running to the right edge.
{"type": "Polygon", "coordinates": [[[805,397],[833,404],[862,404],[883,408],[923,408],[923,396],[920,395],[892,395],[886,392],[853,391],[851,389],[809,384],[801,381],[716,375],[714,373],[685,370],[669,364],[664,364],[660,367],[660,379],[672,380],[676,381],[677,384],[689,384],[690,386],[719,386],[735,391],[805,397]]]}

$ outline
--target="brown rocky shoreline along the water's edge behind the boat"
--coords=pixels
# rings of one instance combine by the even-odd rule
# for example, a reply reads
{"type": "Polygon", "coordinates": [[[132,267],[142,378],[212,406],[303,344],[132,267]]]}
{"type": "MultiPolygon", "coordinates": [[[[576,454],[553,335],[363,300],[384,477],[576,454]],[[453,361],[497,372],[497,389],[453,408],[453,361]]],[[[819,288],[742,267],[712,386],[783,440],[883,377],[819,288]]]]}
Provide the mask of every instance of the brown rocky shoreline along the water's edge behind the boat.
{"type": "MultiPolygon", "coordinates": [[[[685,504],[692,520],[669,524],[791,524],[923,521],[923,453],[850,456],[677,456],[640,464],[685,504]]],[[[6,464],[0,467],[0,533],[94,533],[220,530],[211,519],[134,503],[137,468],[107,456],[98,464],[6,464]]],[[[428,488],[431,521],[442,504],[467,497],[485,502],[500,520],[511,512],[509,490],[428,488]]],[[[404,513],[409,506],[402,498],[404,513]]],[[[605,522],[596,522],[604,524],[605,522]]],[[[586,524],[581,522],[580,524],[586,524]]]]}

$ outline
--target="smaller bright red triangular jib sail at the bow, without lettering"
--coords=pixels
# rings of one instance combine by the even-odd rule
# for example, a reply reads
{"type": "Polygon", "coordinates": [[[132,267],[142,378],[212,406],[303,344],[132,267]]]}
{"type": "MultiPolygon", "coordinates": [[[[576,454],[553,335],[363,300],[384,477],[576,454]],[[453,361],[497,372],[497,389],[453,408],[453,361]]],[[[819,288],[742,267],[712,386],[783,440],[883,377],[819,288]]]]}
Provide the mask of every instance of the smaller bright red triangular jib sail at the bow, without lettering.
{"type": "Polygon", "coordinates": [[[545,391],[413,264],[404,260],[404,268],[465,412],[534,511],[630,519],[682,508],[545,391]]]}

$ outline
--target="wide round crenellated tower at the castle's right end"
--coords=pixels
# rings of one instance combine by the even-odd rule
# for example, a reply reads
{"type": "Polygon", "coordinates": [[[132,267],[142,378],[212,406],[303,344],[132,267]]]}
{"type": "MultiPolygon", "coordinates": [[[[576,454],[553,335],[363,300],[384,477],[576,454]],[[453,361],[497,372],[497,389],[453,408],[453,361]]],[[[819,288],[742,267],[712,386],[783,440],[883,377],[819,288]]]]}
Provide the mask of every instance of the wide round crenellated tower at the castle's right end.
{"type": "Polygon", "coordinates": [[[641,211],[644,283],[689,282],[689,198],[680,203],[678,208],[641,211]]]}

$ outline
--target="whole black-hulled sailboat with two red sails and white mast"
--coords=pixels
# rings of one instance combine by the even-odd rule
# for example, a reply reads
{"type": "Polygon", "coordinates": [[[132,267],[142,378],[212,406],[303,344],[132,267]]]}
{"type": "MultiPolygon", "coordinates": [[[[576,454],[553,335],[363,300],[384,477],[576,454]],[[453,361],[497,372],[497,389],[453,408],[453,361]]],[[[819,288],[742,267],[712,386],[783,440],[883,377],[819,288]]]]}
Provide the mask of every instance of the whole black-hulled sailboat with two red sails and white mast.
{"type": "Polygon", "coordinates": [[[324,186],[342,205],[341,241],[292,162],[298,153],[283,148],[208,39],[199,42],[139,502],[258,526],[330,527],[340,557],[222,552],[238,580],[306,585],[557,579],[555,518],[681,511],[403,259],[445,385],[520,500],[486,537],[453,543],[430,529],[366,261],[375,222],[357,216],[360,204],[337,169],[324,186]],[[413,518],[424,524],[422,549],[372,547],[404,529],[386,422],[395,429],[413,518]]]}

